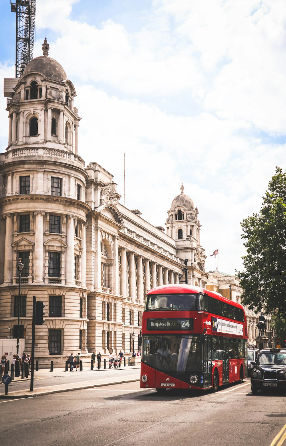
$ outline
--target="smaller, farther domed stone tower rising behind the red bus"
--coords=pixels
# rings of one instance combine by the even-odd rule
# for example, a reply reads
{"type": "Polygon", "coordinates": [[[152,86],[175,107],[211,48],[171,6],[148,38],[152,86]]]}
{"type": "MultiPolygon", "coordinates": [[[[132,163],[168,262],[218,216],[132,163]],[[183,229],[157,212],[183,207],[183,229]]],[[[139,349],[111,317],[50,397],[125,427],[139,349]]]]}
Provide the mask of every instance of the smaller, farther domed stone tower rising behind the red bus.
{"type": "Polygon", "coordinates": [[[181,194],[172,201],[168,214],[167,235],[176,241],[177,255],[187,263],[188,284],[205,286],[207,283],[207,273],[205,272],[207,256],[200,246],[199,211],[195,208],[193,200],[184,194],[183,185],[181,194]]]}

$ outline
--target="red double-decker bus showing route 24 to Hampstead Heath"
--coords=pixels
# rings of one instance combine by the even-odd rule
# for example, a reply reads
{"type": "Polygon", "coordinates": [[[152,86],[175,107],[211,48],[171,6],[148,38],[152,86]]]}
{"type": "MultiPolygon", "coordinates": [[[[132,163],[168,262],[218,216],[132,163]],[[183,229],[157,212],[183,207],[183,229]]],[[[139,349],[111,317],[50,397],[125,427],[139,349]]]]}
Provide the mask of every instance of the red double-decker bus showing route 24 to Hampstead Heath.
{"type": "Polygon", "coordinates": [[[247,323],[243,307],[192,285],[163,285],[146,296],[141,388],[210,389],[243,381],[247,323]]]}

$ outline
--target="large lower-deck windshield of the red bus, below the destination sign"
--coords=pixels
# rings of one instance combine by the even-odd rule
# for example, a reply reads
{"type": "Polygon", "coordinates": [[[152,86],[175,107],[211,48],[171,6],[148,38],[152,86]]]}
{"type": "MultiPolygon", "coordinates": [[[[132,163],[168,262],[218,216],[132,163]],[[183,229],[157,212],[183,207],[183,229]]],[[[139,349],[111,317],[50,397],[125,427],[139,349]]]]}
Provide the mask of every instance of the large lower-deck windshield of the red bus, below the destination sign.
{"type": "Polygon", "coordinates": [[[144,336],[142,363],[160,372],[203,372],[203,343],[198,335],[144,336]]]}

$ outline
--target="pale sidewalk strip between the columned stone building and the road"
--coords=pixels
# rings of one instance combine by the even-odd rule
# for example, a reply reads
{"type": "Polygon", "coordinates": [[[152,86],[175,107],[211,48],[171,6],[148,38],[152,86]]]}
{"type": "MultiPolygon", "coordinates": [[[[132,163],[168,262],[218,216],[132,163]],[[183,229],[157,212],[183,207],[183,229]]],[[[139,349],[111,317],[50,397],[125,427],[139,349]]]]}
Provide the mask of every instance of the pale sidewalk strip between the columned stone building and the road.
{"type": "Polygon", "coordinates": [[[56,368],[53,372],[50,369],[40,369],[39,372],[34,372],[34,390],[30,392],[30,375],[29,378],[21,379],[15,378],[8,386],[8,395],[5,395],[5,386],[0,384],[0,400],[15,399],[15,398],[31,398],[41,395],[49,395],[51,393],[69,392],[71,390],[80,390],[85,388],[100,387],[104,385],[122,384],[126,382],[133,382],[140,380],[140,366],[126,366],[121,369],[104,369],[66,372],[65,368],[56,368]],[[105,373],[104,373],[105,372],[105,373]],[[121,372],[121,373],[120,373],[121,372]],[[65,379],[66,378],[66,379],[65,379]],[[55,380],[65,379],[62,384],[44,384],[41,380],[55,380]],[[66,382],[68,380],[69,382],[66,382]],[[18,384],[18,385],[15,385],[18,384]],[[17,390],[20,386],[25,388],[17,390]]]}

